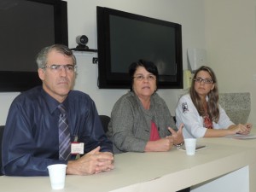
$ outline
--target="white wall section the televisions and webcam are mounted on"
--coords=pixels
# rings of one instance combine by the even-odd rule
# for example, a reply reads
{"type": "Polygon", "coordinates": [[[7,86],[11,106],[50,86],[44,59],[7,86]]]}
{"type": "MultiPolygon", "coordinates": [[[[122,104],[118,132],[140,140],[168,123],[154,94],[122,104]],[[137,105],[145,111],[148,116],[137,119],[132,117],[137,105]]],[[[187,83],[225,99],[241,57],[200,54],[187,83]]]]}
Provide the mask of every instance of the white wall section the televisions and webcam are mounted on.
{"type": "MultiPolygon", "coordinates": [[[[183,67],[187,68],[186,49],[206,47],[205,13],[203,0],[67,0],[69,47],[77,44],[75,38],[86,35],[90,49],[97,49],[96,6],[119,9],[137,15],[145,15],[160,20],[169,20],[182,25],[183,67]]],[[[96,53],[76,52],[78,59],[78,78],[75,89],[88,93],[96,102],[99,113],[110,115],[114,102],[127,90],[99,90],[97,88],[97,65],[92,64],[96,53]]],[[[180,90],[159,90],[171,113],[177,104],[180,90]]],[[[5,125],[9,105],[19,93],[0,93],[0,125],[5,125]]]]}

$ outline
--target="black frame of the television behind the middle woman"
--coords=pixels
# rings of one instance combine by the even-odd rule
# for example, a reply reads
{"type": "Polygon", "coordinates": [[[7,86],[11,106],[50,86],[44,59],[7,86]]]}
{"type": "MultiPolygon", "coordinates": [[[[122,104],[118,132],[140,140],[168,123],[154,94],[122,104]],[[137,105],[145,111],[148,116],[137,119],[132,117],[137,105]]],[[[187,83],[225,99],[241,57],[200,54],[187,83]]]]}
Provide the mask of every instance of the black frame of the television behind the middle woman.
{"type": "Polygon", "coordinates": [[[111,15],[131,19],[142,20],[161,26],[172,26],[175,30],[176,75],[161,75],[158,89],[183,89],[183,55],[182,55],[182,26],[166,20],[158,20],[143,15],[135,15],[116,9],[96,7],[97,20],[97,44],[98,44],[98,87],[100,89],[127,89],[130,88],[130,78],[127,73],[111,72],[111,39],[110,23],[111,15]],[[171,77],[172,76],[172,77],[171,77]],[[172,80],[176,79],[176,80],[172,80]]]}

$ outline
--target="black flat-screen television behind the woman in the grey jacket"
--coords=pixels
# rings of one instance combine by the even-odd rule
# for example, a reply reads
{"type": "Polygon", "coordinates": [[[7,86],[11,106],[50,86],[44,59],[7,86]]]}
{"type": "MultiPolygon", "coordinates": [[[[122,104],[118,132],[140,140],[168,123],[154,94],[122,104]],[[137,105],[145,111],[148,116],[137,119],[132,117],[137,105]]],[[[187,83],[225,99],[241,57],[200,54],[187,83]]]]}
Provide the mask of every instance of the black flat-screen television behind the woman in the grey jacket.
{"type": "Polygon", "coordinates": [[[183,88],[181,25],[102,7],[96,13],[99,88],[129,88],[128,67],[139,59],[158,67],[158,88],[183,88]]]}

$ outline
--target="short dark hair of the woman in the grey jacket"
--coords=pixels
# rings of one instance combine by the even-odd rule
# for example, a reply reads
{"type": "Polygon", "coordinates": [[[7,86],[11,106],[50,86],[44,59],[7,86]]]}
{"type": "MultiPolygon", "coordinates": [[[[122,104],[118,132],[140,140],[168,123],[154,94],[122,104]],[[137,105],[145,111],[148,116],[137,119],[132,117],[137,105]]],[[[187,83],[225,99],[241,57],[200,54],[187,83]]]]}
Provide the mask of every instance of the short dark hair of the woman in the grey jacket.
{"type": "Polygon", "coordinates": [[[154,74],[154,76],[156,77],[156,87],[158,87],[159,74],[158,74],[157,67],[154,65],[153,62],[141,59],[137,62],[131,63],[131,65],[129,67],[129,76],[130,76],[130,82],[131,82],[130,90],[132,90],[132,85],[133,85],[133,80],[134,80],[134,73],[136,72],[137,67],[144,67],[149,73],[154,74]]]}

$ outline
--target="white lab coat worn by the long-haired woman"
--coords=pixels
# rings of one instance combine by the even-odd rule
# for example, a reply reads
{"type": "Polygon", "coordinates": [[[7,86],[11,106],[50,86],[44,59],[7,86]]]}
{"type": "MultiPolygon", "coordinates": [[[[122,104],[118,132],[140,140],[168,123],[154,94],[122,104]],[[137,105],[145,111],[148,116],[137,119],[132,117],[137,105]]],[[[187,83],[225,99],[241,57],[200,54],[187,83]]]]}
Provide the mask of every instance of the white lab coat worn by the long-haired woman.
{"type": "MultiPolygon", "coordinates": [[[[220,115],[218,123],[212,122],[213,129],[227,129],[230,125],[234,125],[225,113],[224,108],[221,108],[220,105],[218,105],[218,108],[220,115]]],[[[184,138],[204,137],[207,131],[207,128],[203,127],[203,118],[197,112],[189,94],[186,94],[179,99],[176,108],[176,120],[177,127],[181,123],[184,124],[184,138]]]]}

